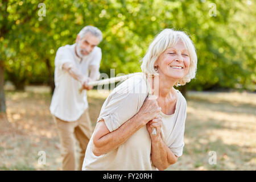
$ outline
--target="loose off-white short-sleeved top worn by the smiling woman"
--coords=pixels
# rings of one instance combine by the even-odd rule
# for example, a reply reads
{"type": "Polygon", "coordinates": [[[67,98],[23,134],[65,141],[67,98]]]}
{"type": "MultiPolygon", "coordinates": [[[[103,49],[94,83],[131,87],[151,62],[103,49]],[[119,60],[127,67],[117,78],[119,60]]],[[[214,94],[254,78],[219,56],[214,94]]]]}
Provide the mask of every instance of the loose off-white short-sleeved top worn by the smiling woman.
{"type": "MultiPolygon", "coordinates": [[[[143,76],[127,79],[106,98],[97,122],[104,119],[110,132],[117,130],[138,113],[147,95],[147,82],[143,76]]],[[[175,155],[181,156],[187,102],[179,90],[177,90],[175,113],[160,114],[163,117],[163,140],[175,155]]],[[[121,146],[101,156],[96,156],[92,152],[93,135],[85,152],[82,170],[158,170],[151,161],[151,139],[146,126],[131,135],[121,146]]]]}

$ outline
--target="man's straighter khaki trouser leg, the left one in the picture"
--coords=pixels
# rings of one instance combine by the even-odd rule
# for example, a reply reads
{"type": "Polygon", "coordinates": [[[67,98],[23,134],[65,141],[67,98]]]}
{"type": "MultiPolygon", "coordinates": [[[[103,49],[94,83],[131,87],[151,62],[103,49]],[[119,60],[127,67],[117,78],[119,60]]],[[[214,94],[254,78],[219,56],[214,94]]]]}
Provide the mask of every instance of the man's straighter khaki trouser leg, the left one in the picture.
{"type": "Polygon", "coordinates": [[[76,122],[67,122],[55,117],[61,142],[62,169],[64,171],[76,170],[75,136],[76,122]]]}

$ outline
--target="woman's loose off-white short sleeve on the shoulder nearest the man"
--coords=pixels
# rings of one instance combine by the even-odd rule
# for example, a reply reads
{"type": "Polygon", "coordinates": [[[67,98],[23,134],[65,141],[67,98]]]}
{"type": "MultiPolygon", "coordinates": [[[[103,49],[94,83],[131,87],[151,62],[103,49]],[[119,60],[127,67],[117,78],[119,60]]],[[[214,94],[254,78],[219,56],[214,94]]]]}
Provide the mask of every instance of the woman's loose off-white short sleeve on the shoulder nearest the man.
{"type": "Polygon", "coordinates": [[[110,132],[117,130],[141,109],[147,97],[146,88],[142,76],[133,76],[122,82],[106,98],[97,122],[104,119],[110,132]]]}

